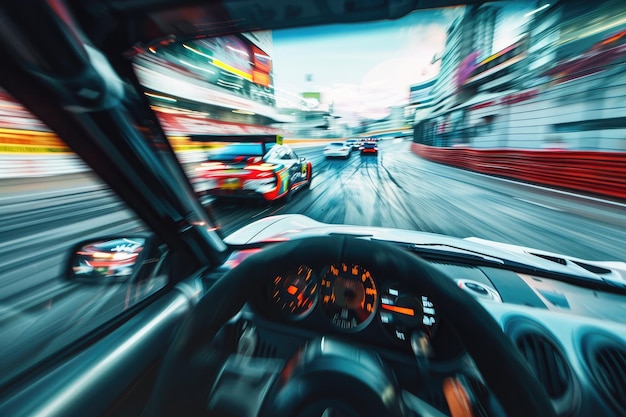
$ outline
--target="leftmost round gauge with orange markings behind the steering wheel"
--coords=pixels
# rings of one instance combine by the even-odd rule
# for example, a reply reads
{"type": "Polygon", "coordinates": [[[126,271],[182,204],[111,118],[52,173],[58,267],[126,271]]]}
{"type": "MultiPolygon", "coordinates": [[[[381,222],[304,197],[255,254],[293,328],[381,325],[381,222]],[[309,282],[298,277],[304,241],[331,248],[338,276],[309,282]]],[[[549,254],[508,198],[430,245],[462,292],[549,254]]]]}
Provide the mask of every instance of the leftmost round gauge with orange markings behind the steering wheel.
{"type": "Polygon", "coordinates": [[[306,265],[300,265],[295,270],[274,278],[270,296],[282,314],[291,319],[299,319],[315,307],[318,290],[313,270],[306,265]]]}

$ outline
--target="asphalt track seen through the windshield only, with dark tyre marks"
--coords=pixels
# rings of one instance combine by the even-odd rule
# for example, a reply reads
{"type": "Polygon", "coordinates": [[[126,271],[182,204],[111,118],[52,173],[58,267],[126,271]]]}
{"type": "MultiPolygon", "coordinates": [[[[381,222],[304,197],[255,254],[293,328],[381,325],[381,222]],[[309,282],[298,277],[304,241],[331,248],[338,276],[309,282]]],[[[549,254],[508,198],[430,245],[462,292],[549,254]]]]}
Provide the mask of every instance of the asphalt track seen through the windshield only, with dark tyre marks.
{"type": "Polygon", "coordinates": [[[531,187],[423,160],[410,142],[383,141],[378,157],[353,152],[314,163],[309,190],[287,204],[216,202],[225,234],[272,214],[326,223],[385,226],[480,237],[590,260],[626,261],[626,204],[531,187]]]}

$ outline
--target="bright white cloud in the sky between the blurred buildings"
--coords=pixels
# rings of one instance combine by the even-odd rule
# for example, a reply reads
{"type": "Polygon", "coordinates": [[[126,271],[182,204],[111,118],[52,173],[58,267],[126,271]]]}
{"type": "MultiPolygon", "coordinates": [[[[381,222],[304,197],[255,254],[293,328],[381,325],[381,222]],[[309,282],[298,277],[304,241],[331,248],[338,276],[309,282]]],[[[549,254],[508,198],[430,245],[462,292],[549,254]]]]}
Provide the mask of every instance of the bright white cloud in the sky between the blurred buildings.
{"type": "Polygon", "coordinates": [[[448,26],[461,10],[430,12],[428,22],[414,19],[369,36],[368,42],[339,38],[331,44],[298,44],[281,51],[281,62],[275,60],[275,80],[284,90],[320,91],[322,103],[332,103],[339,116],[384,117],[389,107],[408,103],[410,85],[437,75],[440,62],[433,63],[433,57],[441,55],[448,26]],[[306,73],[314,74],[312,82],[303,82],[306,73]]]}

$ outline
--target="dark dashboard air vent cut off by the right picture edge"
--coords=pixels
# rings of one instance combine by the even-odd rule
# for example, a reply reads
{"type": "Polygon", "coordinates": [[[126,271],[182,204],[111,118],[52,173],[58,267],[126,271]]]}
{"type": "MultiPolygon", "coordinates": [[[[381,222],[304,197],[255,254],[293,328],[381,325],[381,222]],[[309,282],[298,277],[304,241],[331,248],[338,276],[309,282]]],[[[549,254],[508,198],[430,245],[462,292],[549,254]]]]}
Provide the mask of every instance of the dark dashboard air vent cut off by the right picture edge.
{"type": "Polygon", "coordinates": [[[614,343],[597,346],[588,356],[598,390],[626,415],[626,347],[614,343]]]}

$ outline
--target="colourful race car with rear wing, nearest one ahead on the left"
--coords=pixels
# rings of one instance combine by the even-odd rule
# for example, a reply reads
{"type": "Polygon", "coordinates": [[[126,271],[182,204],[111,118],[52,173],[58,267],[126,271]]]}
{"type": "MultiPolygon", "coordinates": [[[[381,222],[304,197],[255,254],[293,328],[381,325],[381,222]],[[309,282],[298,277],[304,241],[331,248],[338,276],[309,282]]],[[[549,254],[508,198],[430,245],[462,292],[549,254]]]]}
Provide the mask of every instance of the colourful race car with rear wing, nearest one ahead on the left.
{"type": "Polygon", "coordinates": [[[274,201],[309,187],[313,165],[275,135],[206,136],[220,142],[206,162],[196,168],[193,186],[199,195],[250,197],[274,201]]]}

